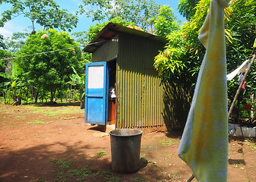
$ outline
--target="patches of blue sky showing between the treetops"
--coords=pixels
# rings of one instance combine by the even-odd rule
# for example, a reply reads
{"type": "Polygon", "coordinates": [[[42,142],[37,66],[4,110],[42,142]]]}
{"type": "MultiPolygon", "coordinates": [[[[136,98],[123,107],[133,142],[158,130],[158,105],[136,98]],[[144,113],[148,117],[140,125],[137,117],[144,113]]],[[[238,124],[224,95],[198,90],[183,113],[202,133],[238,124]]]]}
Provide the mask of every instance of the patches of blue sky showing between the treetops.
{"type": "MultiPolygon", "coordinates": [[[[56,0],[56,2],[59,4],[61,8],[65,8],[69,11],[69,13],[75,13],[75,11],[78,10],[78,6],[82,3],[82,0],[69,0],[69,1],[63,1],[63,0],[56,0]]],[[[159,5],[170,5],[171,8],[174,10],[174,15],[178,17],[178,20],[181,20],[183,22],[186,20],[184,17],[179,14],[177,7],[178,7],[178,0],[155,0],[156,3],[159,5]]],[[[0,14],[2,14],[3,11],[10,8],[10,5],[2,4],[0,5],[0,14]]],[[[72,30],[73,32],[79,32],[88,30],[90,25],[94,25],[96,22],[91,22],[90,18],[85,17],[85,15],[79,15],[78,16],[78,25],[76,28],[72,30]]],[[[0,27],[0,34],[2,34],[5,37],[11,36],[14,32],[23,32],[23,30],[30,31],[30,20],[28,20],[25,17],[15,17],[13,20],[8,21],[5,24],[5,27],[0,27]]],[[[41,30],[40,25],[36,25],[36,30],[41,30]]]]}

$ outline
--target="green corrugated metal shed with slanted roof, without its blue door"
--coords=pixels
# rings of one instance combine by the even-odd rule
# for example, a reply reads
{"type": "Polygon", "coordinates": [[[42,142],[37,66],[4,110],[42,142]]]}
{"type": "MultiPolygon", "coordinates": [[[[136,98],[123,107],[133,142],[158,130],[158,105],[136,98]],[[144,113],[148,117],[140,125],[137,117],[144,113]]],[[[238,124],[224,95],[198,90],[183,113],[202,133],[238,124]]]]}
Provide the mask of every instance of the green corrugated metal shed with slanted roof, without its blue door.
{"type": "MultiPolygon", "coordinates": [[[[155,55],[165,43],[161,36],[110,23],[85,47],[85,52],[92,53],[92,62],[107,61],[107,87],[116,89],[116,128],[165,125],[164,86],[160,86],[153,67],[155,55]]],[[[112,112],[109,104],[106,115],[112,112]]],[[[85,101],[85,121],[88,121],[90,115],[86,107],[85,101]]],[[[109,117],[105,124],[110,124],[109,117]]]]}

